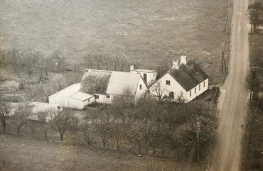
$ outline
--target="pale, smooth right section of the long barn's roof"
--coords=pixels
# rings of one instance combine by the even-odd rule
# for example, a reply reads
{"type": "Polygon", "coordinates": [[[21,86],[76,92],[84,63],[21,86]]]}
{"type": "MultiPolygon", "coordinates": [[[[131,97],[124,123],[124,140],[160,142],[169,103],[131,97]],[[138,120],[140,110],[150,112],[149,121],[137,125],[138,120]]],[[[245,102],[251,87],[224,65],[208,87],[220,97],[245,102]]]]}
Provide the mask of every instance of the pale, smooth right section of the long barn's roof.
{"type": "Polygon", "coordinates": [[[141,75],[132,72],[112,72],[107,94],[123,94],[126,89],[135,95],[141,75]]]}

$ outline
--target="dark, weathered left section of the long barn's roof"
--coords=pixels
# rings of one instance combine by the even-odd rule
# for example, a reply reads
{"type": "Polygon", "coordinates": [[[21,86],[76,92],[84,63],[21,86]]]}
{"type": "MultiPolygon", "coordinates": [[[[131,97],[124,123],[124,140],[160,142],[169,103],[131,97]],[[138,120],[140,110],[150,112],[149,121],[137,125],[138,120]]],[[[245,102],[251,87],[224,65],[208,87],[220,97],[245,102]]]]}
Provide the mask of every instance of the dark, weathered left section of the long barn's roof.
{"type": "Polygon", "coordinates": [[[106,94],[112,72],[104,70],[85,70],[80,84],[80,92],[87,94],[106,94]]]}

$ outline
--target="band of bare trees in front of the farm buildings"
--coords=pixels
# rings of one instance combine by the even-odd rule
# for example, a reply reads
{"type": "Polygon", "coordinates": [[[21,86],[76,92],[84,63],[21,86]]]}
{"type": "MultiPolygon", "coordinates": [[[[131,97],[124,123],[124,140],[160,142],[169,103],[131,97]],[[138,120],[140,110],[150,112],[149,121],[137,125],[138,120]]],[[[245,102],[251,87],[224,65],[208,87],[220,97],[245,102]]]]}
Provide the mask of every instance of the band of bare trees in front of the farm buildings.
{"type": "Polygon", "coordinates": [[[216,140],[217,109],[210,104],[211,101],[181,104],[151,97],[134,104],[131,96],[124,95],[114,98],[112,104],[87,109],[79,117],[73,109],[32,114],[27,103],[19,104],[18,110],[11,114],[11,107],[1,103],[1,129],[5,132],[10,124],[18,135],[23,134],[21,128],[28,128],[33,135],[43,135],[45,140],[58,134],[60,141],[74,140],[77,144],[140,155],[197,160],[197,153],[205,158],[216,140]],[[199,145],[197,122],[200,123],[199,145]]]}

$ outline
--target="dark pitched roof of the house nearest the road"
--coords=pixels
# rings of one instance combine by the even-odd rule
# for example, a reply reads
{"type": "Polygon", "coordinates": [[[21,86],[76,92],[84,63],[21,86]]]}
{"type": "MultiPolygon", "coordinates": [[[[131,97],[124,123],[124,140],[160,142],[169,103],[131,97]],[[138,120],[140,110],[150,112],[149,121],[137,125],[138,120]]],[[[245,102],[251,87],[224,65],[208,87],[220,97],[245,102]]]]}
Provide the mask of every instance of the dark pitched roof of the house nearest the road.
{"type": "Polygon", "coordinates": [[[208,79],[208,75],[192,60],[187,62],[186,65],[180,65],[178,70],[173,69],[168,71],[168,74],[176,79],[187,92],[205,79],[208,79]]]}

